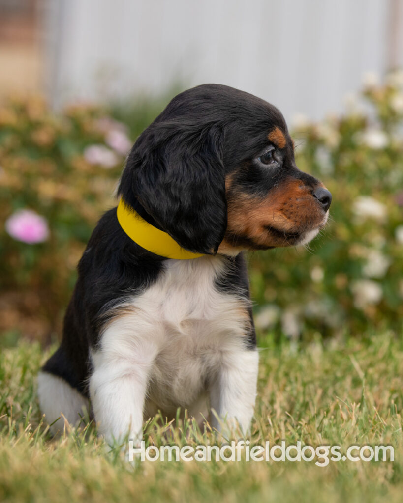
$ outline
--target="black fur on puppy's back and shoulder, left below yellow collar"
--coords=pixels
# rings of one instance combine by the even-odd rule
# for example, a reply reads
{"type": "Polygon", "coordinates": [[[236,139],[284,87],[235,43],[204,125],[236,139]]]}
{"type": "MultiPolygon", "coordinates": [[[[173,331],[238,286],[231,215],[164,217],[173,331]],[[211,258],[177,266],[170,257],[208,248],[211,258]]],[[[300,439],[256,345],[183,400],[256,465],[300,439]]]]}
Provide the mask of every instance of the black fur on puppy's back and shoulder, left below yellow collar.
{"type": "Polygon", "coordinates": [[[60,348],[43,370],[58,375],[88,396],[91,373],[88,351],[113,307],[141,292],[158,278],[165,259],[144,250],[120,227],[116,208],[95,227],[78,266],[75,286],[63,323],[60,348]]]}

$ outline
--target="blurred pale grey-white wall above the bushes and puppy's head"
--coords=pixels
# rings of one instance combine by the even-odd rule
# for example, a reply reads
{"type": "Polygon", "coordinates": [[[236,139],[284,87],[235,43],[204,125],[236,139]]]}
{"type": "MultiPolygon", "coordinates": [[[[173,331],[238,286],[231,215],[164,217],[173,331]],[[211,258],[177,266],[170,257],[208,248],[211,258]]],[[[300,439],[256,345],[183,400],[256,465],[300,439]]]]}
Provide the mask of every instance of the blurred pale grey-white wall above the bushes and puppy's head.
{"type": "Polygon", "coordinates": [[[219,82],[320,118],[385,72],[391,44],[403,55],[402,1],[49,0],[48,90],[59,106],[219,82]]]}

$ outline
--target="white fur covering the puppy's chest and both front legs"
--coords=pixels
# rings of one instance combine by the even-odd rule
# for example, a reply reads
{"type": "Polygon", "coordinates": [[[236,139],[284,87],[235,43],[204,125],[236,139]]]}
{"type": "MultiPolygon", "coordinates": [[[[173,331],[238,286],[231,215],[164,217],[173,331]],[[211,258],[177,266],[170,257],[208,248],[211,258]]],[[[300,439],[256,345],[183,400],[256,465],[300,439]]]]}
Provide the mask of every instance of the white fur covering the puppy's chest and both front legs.
{"type": "Polygon", "coordinates": [[[173,416],[178,406],[195,413],[206,393],[246,432],[258,367],[257,350],[245,345],[248,301],[215,288],[220,257],[165,264],[153,286],[121,306],[91,353],[99,432],[110,442],[127,433],[139,440],[144,416],[158,409],[173,416]]]}

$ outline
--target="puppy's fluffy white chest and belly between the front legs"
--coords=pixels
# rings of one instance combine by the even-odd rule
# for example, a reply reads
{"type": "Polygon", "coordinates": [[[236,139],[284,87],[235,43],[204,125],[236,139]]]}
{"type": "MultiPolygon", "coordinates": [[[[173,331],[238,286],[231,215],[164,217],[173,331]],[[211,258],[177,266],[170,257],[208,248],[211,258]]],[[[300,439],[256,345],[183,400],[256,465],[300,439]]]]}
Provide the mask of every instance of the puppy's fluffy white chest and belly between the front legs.
{"type": "Polygon", "coordinates": [[[150,323],[158,354],[149,397],[163,410],[190,407],[222,364],[245,339],[246,300],[215,284],[221,259],[170,261],[162,278],[135,301],[150,323]]]}

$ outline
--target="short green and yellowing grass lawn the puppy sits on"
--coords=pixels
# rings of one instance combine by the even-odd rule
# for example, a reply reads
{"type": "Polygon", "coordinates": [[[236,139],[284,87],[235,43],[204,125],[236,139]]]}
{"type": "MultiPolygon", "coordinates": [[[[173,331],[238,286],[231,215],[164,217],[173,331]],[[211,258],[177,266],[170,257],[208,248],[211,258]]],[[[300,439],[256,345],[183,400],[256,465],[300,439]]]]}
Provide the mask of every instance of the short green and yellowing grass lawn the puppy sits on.
{"type": "MultiPolygon", "coordinates": [[[[400,334],[401,335],[401,334],[400,334]]],[[[22,342],[0,355],[0,501],[401,501],[403,343],[384,332],[299,346],[260,338],[251,443],[391,444],[394,462],[150,462],[110,451],[89,425],[52,440],[35,375],[46,358],[22,342]]],[[[214,443],[190,421],[152,422],[147,444],[214,443]]]]}

